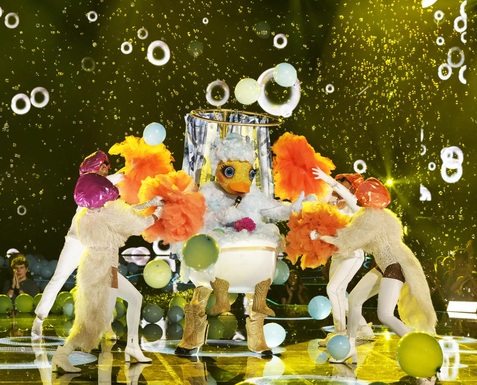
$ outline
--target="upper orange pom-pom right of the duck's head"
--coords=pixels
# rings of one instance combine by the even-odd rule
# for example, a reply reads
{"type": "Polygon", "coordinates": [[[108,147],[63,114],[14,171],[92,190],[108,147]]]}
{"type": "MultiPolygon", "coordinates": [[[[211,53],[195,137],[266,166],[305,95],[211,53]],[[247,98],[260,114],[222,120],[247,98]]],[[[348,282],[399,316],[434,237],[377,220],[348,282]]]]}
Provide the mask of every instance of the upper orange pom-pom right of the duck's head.
{"type": "Polygon", "coordinates": [[[328,187],[321,179],[315,179],[312,168],[319,167],[326,174],[336,167],[333,162],[315,153],[305,136],[285,132],[271,147],[273,157],[273,180],[275,195],[294,201],[304,191],[305,195],[316,194],[322,199],[328,187]]]}

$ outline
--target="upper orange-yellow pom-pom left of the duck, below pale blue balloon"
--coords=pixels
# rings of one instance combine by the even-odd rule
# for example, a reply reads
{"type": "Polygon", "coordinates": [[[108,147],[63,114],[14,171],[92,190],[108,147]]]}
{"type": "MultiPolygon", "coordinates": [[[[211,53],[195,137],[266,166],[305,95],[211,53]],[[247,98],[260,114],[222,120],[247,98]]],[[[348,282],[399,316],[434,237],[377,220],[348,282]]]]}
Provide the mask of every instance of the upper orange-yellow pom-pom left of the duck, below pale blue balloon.
{"type": "Polygon", "coordinates": [[[141,202],[138,193],[141,182],[147,177],[174,171],[171,163],[174,158],[163,143],[151,146],[143,138],[131,135],[112,146],[109,153],[124,157],[126,166],[121,170],[124,171],[124,181],[118,184],[118,189],[121,197],[129,204],[141,202]]]}

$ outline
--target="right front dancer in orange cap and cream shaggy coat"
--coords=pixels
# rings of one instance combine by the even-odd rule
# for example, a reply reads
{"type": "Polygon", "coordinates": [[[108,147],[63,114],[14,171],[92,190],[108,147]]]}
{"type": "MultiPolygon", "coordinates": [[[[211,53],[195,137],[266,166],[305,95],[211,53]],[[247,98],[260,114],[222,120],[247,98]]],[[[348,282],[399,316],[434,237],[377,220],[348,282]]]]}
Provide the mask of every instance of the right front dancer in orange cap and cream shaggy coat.
{"type": "Polygon", "coordinates": [[[330,359],[330,362],[337,363],[350,357],[356,363],[355,340],[361,308],[376,294],[379,294],[378,318],[399,337],[408,333],[409,328],[435,334],[437,322],[422,266],[402,242],[401,222],[385,208],[390,202],[389,192],[378,180],[370,178],[358,187],[356,197],[364,208],[346,227],[339,229],[335,237],[320,236],[316,231],[310,234],[310,238],[333,244],[338,250],[361,248],[372,254],[378,265],[349,295],[348,338],[351,349],[342,360],[330,359]],[[394,316],[396,304],[402,321],[394,316]]]}

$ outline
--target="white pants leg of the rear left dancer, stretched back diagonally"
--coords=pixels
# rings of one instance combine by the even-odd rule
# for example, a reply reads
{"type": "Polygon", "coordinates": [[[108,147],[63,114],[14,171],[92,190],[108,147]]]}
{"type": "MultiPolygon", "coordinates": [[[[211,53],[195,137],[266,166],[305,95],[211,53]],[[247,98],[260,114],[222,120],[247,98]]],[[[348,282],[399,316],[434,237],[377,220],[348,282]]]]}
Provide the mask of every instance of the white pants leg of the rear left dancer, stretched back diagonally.
{"type": "Polygon", "coordinates": [[[61,251],[56,265],[55,274],[50,279],[38,306],[35,309],[36,315],[42,320],[48,317],[50,309],[55,302],[56,296],[69,278],[69,276],[75,271],[79,265],[79,260],[85,251],[85,247],[75,238],[66,237],[65,246],[61,251]]]}

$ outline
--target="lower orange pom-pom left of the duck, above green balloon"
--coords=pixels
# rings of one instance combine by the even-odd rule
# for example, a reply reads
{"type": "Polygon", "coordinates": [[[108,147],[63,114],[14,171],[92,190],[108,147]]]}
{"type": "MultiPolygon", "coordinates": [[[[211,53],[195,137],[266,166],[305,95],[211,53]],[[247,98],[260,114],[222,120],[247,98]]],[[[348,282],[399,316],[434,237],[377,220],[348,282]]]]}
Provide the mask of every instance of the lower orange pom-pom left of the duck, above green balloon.
{"type": "MultiPolygon", "coordinates": [[[[159,238],[164,243],[182,242],[202,228],[207,207],[205,198],[185,171],[147,177],[139,197],[144,202],[156,195],[162,196],[165,204],[160,219],[143,232],[146,241],[154,242],[159,238]]],[[[149,207],[144,211],[150,215],[154,210],[155,207],[149,207]]]]}

